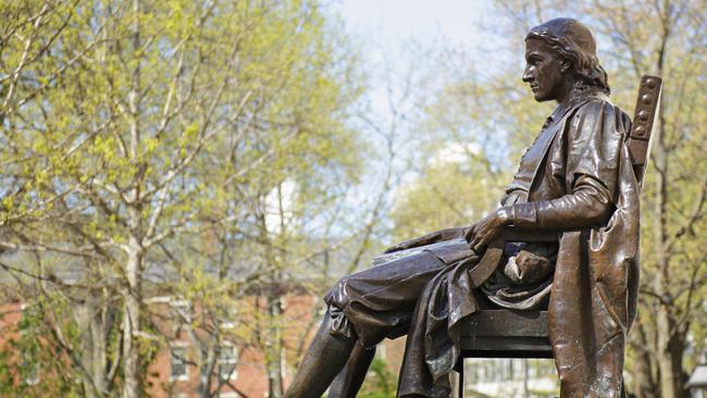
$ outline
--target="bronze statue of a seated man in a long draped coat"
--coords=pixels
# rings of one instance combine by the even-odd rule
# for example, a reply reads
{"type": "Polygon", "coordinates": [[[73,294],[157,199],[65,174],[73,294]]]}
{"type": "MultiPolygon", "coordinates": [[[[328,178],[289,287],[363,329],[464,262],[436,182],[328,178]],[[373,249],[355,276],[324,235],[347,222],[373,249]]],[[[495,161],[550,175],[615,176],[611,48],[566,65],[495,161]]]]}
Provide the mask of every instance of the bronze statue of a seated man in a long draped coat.
{"type": "Polygon", "coordinates": [[[447,397],[464,316],[548,309],[561,396],[620,397],[625,334],[635,315],[638,186],[590,29],[571,18],[525,37],[522,76],[536,101],[557,101],[497,210],[470,227],[399,244],[342,278],[286,397],[354,397],[383,338],[407,334],[398,397],[447,397]],[[506,245],[479,288],[469,272],[503,228],[557,232],[555,244],[506,245]]]}

